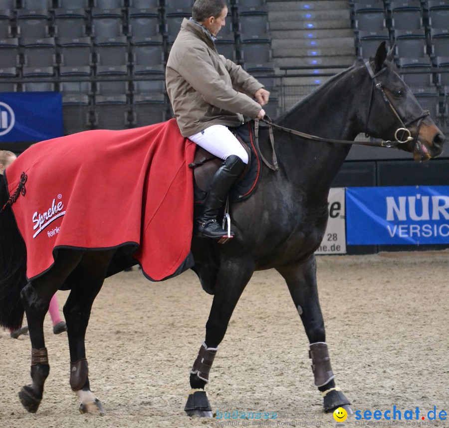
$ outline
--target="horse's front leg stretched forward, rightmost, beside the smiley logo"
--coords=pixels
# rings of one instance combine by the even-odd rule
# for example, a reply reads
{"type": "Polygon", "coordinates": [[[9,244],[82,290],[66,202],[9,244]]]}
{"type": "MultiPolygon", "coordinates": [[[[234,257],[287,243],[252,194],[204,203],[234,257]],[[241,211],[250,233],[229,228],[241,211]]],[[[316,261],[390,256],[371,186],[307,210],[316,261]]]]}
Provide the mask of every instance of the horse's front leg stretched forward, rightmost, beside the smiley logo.
{"type": "Polygon", "coordinates": [[[290,295],[309,339],[309,358],[312,359],[315,385],[324,397],[324,411],[333,412],[335,409],[343,407],[348,415],[352,415],[350,402],[335,386],[326,344],[324,320],[318,300],[315,255],[312,254],[303,263],[278,268],[277,271],[284,277],[288,285],[290,295]]]}

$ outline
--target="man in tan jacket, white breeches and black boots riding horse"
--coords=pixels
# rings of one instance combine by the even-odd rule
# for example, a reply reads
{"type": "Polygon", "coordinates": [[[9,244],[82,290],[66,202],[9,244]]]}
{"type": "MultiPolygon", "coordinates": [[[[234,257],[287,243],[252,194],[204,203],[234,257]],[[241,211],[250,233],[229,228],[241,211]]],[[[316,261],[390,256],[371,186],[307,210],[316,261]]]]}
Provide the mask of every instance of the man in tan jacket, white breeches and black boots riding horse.
{"type": "Polygon", "coordinates": [[[217,52],[214,40],[226,15],[225,0],[196,0],[192,17],[181,24],[166,69],[167,92],[181,134],[225,161],[197,219],[199,234],[210,238],[226,234],[217,222],[218,212],[248,163],[246,151],[227,127],[241,125],[244,116],[263,118],[261,106],[270,94],[217,52]]]}

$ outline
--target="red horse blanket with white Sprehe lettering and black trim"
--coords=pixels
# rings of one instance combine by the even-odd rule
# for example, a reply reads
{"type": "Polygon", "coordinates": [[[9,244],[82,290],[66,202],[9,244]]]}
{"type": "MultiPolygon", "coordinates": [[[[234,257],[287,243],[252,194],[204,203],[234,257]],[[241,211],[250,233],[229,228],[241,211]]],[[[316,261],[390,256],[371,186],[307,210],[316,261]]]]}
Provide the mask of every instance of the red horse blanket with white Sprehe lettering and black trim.
{"type": "Polygon", "coordinates": [[[37,143],[5,171],[25,241],[27,277],[54,263],[58,248],[137,248],[160,281],[191,266],[195,144],[175,119],[123,131],[93,130],[37,143]],[[187,261],[187,263],[186,263],[187,261]]]}

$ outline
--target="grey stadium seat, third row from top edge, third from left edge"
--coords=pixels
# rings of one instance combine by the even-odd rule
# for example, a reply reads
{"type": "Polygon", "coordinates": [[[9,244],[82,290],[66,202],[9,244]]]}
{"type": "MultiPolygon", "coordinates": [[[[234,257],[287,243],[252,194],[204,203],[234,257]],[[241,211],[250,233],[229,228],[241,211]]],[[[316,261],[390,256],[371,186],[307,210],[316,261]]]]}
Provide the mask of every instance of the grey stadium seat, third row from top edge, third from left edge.
{"type": "Polygon", "coordinates": [[[58,39],[59,74],[63,76],[90,76],[93,64],[90,37],[58,39]]]}

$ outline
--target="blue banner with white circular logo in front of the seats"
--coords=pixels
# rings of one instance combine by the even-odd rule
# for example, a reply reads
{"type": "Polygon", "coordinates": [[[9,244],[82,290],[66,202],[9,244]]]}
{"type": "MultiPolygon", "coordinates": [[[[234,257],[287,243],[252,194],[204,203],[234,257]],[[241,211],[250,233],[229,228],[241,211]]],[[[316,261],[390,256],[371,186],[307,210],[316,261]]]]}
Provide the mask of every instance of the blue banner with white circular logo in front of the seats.
{"type": "Polygon", "coordinates": [[[63,135],[59,92],[0,92],[0,141],[43,141],[63,135]]]}

